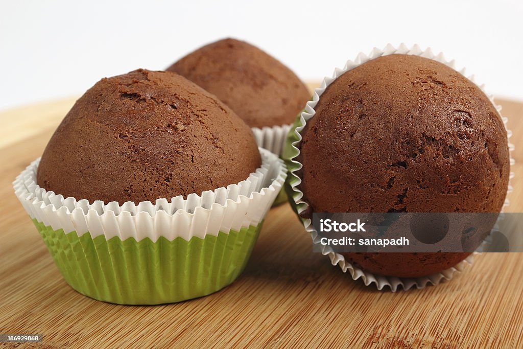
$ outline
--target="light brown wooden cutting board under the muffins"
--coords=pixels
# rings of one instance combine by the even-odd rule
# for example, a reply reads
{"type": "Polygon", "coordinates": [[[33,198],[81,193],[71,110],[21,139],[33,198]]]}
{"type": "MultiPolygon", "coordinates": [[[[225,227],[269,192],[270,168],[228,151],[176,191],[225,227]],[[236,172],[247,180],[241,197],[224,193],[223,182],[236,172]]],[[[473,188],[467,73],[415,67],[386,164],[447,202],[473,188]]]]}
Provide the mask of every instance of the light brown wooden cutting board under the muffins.
{"type": "MultiPolygon", "coordinates": [[[[43,335],[41,343],[20,347],[523,347],[523,254],[483,254],[436,287],[378,291],[312,253],[288,204],[269,212],[245,272],[220,292],[161,306],[119,306],[78,294],[11,186],[73,103],[0,114],[0,333],[43,335]]],[[[516,145],[507,211],[521,212],[523,104],[498,103],[516,145]]]]}

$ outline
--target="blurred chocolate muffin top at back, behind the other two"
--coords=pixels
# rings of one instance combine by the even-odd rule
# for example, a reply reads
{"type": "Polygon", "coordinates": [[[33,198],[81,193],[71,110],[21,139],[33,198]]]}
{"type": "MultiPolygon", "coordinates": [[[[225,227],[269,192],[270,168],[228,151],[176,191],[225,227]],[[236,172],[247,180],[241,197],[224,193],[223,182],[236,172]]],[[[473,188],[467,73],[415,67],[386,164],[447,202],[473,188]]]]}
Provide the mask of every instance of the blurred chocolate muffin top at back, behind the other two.
{"type": "Polygon", "coordinates": [[[292,123],[311,97],[288,67],[234,39],[208,44],[167,70],[216,95],[251,127],[292,123]]]}

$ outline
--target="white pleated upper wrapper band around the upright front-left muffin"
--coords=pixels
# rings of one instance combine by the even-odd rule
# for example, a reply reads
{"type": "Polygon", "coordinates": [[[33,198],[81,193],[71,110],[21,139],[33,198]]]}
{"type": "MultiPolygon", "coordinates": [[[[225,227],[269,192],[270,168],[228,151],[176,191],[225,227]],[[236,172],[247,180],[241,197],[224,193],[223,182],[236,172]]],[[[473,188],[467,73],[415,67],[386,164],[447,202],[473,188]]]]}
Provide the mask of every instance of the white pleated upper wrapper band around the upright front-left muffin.
{"type": "Polygon", "coordinates": [[[64,198],[48,192],[36,183],[40,159],[33,161],[18,175],[13,186],[15,194],[32,219],[64,233],[76,231],[78,236],[89,232],[92,238],[105,235],[109,240],[164,237],[169,241],[181,237],[204,238],[207,234],[229,233],[256,226],[265,218],[287,176],[287,168],[278,156],[259,149],[262,164],[256,172],[238,184],[182,196],[170,200],[157,199],[155,204],[95,201],[64,198]]]}

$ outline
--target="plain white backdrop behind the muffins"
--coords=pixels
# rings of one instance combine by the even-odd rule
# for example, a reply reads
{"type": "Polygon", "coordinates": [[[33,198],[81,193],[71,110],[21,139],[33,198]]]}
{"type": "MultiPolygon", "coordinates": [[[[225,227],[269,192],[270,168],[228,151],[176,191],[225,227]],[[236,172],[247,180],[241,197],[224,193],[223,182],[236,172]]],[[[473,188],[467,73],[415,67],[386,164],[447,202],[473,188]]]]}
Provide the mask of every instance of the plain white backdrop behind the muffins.
{"type": "Polygon", "coordinates": [[[360,51],[419,43],[456,59],[496,96],[523,99],[522,33],[520,1],[2,0],[0,110],[80,95],[139,67],[165,69],[229,36],[313,81],[360,51]]]}

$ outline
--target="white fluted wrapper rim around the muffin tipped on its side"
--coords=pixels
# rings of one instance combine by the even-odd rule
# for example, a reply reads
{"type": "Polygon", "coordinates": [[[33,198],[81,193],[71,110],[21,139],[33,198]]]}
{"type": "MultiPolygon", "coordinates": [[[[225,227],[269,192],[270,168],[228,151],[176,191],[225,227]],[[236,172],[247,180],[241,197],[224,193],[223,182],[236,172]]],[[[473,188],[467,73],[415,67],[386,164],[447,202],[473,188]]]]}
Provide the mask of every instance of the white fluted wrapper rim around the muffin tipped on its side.
{"type": "MultiPolygon", "coordinates": [[[[391,44],[388,44],[383,50],[374,48],[369,55],[359,53],[354,61],[350,61],[350,60],[347,61],[347,63],[345,64],[345,67],[343,69],[336,68],[334,70],[334,74],[332,77],[324,78],[321,86],[319,88],[315,89],[312,100],[310,100],[306,104],[305,110],[302,112],[302,114],[300,116],[299,125],[301,125],[301,126],[297,127],[295,130],[295,134],[298,137],[298,141],[295,141],[292,143],[293,150],[297,151],[299,153],[299,149],[298,149],[297,145],[301,142],[301,139],[302,139],[301,132],[306,124],[306,121],[311,119],[314,116],[314,114],[315,114],[314,107],[320,100],[320,96],[325,92],[325,89],[327,88],[328,85],[330,85],[340,75],[344,74],[345,72],[347,72],[351,69],[354,69],[355,67],[357,67],[363,63],[366,63],[372,59],[376,59],[376,58],[379,58],[379,57],[382,57],[385,55],[389,55],[389,54],[394,54],[394,53],[412,54],[412,55],[417,55],[419,57],[432,59],[432,60],[438,61],[440,63],[443,63],[443,64],[451,67],[454,70],[457,70],[459,73],[461,73],[463,76],[467,77],[470,81],[472,81],[474,84],[476,84],[477,86],[479,86],[481,88],[481,90],[488,96],[488,98],[491,100],[491,102],[494,105],[494,107],[496,108],[496,110],[500,113],[499,115],[501,116],[501,106],[496,105],[494,103],[494,97],[485,92],[484,85],[477,84],[475,82],[474,75],[470,75],[470,76],[465,75],[464,68],[461,70],[456,69],[455,62],[447,61],[442,53],[434,54],[430,50],[430,48],[427,48],[425,51],[423,51],[422,49],[419,48],[419,46],[417,44],[414,45],[410,49],[408,47],[406,47],[405,44],[403,44],[403,43],[397,48],[395,48],[391,44]]],[[[507,129],[507,120],[508,119],[506,117],[502,116],[502,120],[505,125],[505,129],[507,130],[507,138],[510,138],[510,136],[512,135],[512,132],[507,129]]],[[[509,148],[509,152],[511,152],[514,150],[514,145],[511,143],[508,143],[508,148],[509,148]]],[[[295,165],[299,165],[299,167],[297,169],[291,171],[291,174],[289,174],[289,175],[293,176],[295,179],[297,179],[297,180],[293,181],[293,183],[291,184],[291,187],[292,187],[293,191],[298,194],[295,196],[294,201],[297,205],[298,213],[301,213],[304,210],[308,209],[309,205],[306,201],[304,201],[302,199],[303,193],[301,192],[301,190],[299,188],[301,179],[298,177],[297,174],[295,174],[295,172],[300,170],[301,164],[299,162],[295,161],[294,159],[295,159],[295,156],[291,160],[292,163],[295,165]]],[[[514,164],[514,159],[510,156],[510,165],[513,165],[513,164],[514,164]]],[[[510,172],[509,178],[511,179],[513,177],[514,177],[514,173],[510,172]]],[[[509,183],[508,183],[507,193],[510,193],[512,191],[512,186],[510,185],[510,179],[509,179],[509,183]]],[[[508,206],[508,204],[509,204],[509,201],[508,201],[508,199],[506,199],[505,203],[504,203],[504,207],[508,206]]],[[[347,260],[345,260],[343,255],[333,252],[331,247],[320,244],[320,239],[318,237],[317,232],[314,230],[311,219],[302,219],[302,221],[303,221],[303,225],[304,225],[306,231],[308,231],[311,234],[313,243],[319,245],[322,250],[322,253],[324,255],[328,255],[329,258],[331,258],[331,262],[333,265],[339,265],[340,268],[342,268],[342,271],[344,273],[346,273],[348,271],[354,280],[361,278],[363,280],[363,283],[365,283],[366,286],[368,286],[370,284],[375,284],[379,290],[383,289],[386,286],[390,287],[392,291],[396,291],[400,287],[403,288],[404,290],[408,290],[413,287],[416,287],[418,289],[424,288],[425,286],[427,286],[429,284],[437,285],[440,282],[443,282],[444,280],[450,280],[453,277],[453,275],[456,274],[456,272],[461,272],[465,268],[465,266],[467,266],[468,264],[472,264],[474,255],[479,253],[479,252],[474,252],[473,254],[469,255],[464,261],[461,261],[457,265],[450,267],[440,273],[429,275],[429,276],[418,277],[418,278],[397,278],[397,277],[374,275],[372,273],[363,271],[362,269],[350,264],[347,260]]],[[[481,246],[480,246],[480,249],[481,249],[481,246]]]]}

